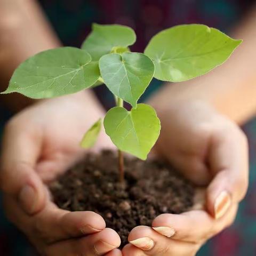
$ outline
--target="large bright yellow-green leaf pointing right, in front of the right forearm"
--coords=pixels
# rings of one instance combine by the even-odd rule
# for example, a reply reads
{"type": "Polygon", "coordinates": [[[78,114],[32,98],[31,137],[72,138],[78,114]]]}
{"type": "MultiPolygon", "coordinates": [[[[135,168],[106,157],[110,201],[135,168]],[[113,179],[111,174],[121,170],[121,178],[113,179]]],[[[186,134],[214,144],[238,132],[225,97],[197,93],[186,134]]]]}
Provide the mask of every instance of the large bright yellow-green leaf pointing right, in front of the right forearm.
{"type": "Polygon", "coordinates": [[[145,54],[155,63],[154,77],[181,82],[221,65],[241,42],[205,25],[180,25],[155,35],[145,54]]]}

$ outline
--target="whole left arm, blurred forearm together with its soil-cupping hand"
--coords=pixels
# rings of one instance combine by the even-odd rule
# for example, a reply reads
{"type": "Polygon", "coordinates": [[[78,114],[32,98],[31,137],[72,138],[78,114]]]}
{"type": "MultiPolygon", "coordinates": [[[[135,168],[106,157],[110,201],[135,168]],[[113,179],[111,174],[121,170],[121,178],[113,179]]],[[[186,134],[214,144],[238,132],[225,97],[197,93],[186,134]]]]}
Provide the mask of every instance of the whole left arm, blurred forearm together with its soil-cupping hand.
{"type": "MultiPolygon", "coordinates": [[[[2,91],[21,61],[60,46],[33,0],[0,0],[0,33],[2,91]]],[[[13,109],[33,102],[20,94],[4,95],[2,99],[13,109]],[[14,106],[14,103],[18,104],[14,106]]],[[[5,127],[0,157],[5,213],[44,255],[120,253],[112,251],[120,244],[119,236],[105,228],[100,215],[59,209],[51,202],[46,186],[47,181],[67,170],[84,154],[79,141],[94,118],[103,113],[93,93],[86,90],[33,104],[15,115],[5,127]]],[[[101,134],[95,149],[108,145],[108,138],[101,134]]]]}

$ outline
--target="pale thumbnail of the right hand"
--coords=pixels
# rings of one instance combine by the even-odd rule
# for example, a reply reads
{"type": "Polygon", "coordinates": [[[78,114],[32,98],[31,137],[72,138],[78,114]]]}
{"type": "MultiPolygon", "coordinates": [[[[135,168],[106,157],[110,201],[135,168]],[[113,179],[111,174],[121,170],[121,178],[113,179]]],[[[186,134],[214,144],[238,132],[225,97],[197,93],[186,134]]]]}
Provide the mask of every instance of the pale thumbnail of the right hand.
{"type": "Polygon", "coordinates": [[[230,194],[224,190],[222,191],[214,204],[214,217],[215,219],[220,219],[228,210],[231,204],[231,196],[230,194]]]}

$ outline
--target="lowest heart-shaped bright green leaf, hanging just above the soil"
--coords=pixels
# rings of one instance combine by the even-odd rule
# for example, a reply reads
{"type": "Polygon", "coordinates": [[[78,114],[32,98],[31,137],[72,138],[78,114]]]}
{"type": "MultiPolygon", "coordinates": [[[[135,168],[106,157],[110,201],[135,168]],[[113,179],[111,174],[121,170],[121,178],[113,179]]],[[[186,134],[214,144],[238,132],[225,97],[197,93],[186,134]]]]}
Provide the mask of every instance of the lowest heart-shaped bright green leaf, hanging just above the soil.
{"type": "Polygon", "coordinates": [[[127,111],[122,107],[111,108],[104,119],[106,133],[122,151],[147,158],[161,129],[154,108],[138,104],[137,108],[127,111]]]}

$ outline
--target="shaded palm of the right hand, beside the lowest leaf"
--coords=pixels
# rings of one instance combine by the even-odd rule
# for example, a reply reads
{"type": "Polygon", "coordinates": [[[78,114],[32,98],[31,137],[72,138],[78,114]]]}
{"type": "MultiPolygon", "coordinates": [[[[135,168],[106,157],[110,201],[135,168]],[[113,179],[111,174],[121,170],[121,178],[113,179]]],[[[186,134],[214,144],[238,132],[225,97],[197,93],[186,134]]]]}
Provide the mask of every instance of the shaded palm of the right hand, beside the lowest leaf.
{"type": "Polygon", "coordinates": [[[215,121],[197,106],[177,106],[168,115],[161,120],[158,151],[196,185],[207,185],[211,180],[208,162],[215,121]]]}

